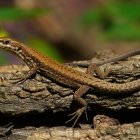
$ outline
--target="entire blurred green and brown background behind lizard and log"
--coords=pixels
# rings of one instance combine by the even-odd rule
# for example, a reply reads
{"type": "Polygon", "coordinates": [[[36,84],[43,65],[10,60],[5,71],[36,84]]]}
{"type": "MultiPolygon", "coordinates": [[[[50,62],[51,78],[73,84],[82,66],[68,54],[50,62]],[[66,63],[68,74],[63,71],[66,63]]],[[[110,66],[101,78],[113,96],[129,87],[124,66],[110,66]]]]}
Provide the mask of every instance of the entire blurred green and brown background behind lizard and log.
{"type": "MultiPolygon", "coordinates": [[[[0,36],[60,62],[139,48],[139,0],[0,0],[0,36]]],[[[20,63],[0,50],[0,65],[20,63]]]]}

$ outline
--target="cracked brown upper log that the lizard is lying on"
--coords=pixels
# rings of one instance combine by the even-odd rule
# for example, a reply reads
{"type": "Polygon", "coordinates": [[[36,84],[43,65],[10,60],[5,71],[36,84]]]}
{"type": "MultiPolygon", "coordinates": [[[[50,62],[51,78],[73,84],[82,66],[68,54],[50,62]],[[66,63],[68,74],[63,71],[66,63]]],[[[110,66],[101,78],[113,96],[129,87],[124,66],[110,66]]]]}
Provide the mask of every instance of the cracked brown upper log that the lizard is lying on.
{"type": "MultiPolygon", "coordinates": [[[[105,79],[109,82],[123,83],[138,79],[140,62],[133,58],[118,64],[101,66],[102,70],[111,70],[105,79]]],[[[84,69],[77,68],[84,71],[84,69]]],[[[0,111],[8,114],[23,114],[27,112],[52,110],[53,112],[69,110],[72,103],[74,89],[59,85],[40,74],[28,79],[22,84],[12,83],[26,74],[26,66],[3,66],[0,69],[0,111]]],[[[90,90],[84,97],[89,104],[99,105],[105,108],[139,109],[140,92],[126,95],[106,95],[90,90]]]]}

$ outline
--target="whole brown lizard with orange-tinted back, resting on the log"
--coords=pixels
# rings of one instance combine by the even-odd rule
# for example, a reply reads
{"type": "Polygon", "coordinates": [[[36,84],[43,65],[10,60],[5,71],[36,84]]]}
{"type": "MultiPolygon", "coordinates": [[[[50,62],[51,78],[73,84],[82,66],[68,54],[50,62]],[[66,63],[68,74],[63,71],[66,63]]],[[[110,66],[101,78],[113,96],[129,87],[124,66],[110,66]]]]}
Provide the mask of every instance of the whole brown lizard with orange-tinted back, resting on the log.
{"type": "MultiPolygon", "coordinates": [[[[140,79],[123,84],[106,82],[99,78],[95,78],[90,74],[60,64],[51,58],[41,55],[36,50],[12,39],[0,38],[0,48],[14,53],[29,66],[30,70],[27,72],[24,80],[30,78],[32,75],[36,74],[36,72],[39,72],[47,78],[66,86],[73,88],[80,87],[75,92],[74,99],[82,105],[82,108],[72,114],[74,115],[73,118],[78,116],[78,119],[83,111],[86,110],[86,102],[81,96],[85,94],[89,87],[96,89],[96,91],[103,92],[104,94],[127,94],[128,92],[140,90],[140,79]]],[[[132,54],[124,55],[120,60],[139,53],[140,50],[137,50],[135,53],[133,52],[132,54]]],[[[113,61],[115,60],[113,59],[113,61]]],[[[105,63],[107,63],[107,61],[105,63]]],[[[75,123],[77,122],[77,119],[75,123]]]]}

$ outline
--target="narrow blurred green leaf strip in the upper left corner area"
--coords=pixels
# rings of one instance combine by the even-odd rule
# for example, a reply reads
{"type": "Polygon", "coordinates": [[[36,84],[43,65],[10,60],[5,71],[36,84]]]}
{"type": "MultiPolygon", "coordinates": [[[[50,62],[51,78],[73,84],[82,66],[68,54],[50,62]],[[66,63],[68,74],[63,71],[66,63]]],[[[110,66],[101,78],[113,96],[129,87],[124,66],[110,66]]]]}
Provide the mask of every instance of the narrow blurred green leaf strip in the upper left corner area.
{"type": "Polygon", "coordinates": [[[36,17],[48,12],[48,9],[24,10],[16,7],[0,7],[0,20],[20,20],[36,17]]]}

